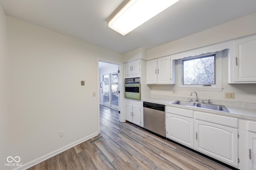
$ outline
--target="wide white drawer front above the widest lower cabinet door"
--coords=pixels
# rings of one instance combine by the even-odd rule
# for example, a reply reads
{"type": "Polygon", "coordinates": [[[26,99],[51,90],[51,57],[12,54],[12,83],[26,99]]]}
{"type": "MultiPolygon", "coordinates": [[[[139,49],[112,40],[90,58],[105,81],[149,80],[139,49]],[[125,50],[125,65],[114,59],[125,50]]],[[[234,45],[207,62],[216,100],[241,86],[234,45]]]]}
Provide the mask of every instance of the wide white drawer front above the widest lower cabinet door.
{"type": "Polygon", "coordinates": [[[210,113],[195,111],[195,118],[198,120],[203,120],[203,121],[208,121],[212,123],[217,123],[220,125],[238,128],[238,119],[233,117],[226,117],[221,115],[214,115],[210,113]]]}

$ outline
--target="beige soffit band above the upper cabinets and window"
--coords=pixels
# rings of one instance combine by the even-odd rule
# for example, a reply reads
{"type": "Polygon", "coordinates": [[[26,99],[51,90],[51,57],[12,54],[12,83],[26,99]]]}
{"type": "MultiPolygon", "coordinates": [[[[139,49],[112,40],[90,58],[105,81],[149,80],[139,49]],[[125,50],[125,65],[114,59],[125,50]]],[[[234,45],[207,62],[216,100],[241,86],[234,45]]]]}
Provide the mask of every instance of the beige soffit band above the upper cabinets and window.
{"type": "Polygon", "coordinates": [[[147,59],[154,59],[220,43],[230,39],[256,33],[256,13],[238,18],[222,25],[206,29],[199,33],[160,45],[147,51],[147,59]]]}

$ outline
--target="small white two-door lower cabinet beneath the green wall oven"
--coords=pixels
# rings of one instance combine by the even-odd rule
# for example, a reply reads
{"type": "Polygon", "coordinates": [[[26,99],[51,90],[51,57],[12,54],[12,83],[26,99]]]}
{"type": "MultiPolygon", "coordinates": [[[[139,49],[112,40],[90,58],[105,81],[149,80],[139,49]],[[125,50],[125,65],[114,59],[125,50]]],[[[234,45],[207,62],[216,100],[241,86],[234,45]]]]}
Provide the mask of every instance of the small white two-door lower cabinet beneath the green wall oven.
{"type": "Polygon", "coordinates": [[[125,100],[126,120],[143,127],[142,102],[137,100],[125,100]]]}

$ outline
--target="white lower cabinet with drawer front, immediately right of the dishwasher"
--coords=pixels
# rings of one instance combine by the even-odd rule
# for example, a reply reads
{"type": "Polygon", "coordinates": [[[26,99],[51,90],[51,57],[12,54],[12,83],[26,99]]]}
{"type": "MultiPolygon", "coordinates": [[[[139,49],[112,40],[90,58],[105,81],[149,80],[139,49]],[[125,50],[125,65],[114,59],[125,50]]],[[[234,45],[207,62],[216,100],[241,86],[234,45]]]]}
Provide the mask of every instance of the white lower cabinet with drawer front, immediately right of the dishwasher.
{"type": "Polygon", "coordinates": [[[194,148],[193,111],[166,107],[166,137],[194,148]]]}

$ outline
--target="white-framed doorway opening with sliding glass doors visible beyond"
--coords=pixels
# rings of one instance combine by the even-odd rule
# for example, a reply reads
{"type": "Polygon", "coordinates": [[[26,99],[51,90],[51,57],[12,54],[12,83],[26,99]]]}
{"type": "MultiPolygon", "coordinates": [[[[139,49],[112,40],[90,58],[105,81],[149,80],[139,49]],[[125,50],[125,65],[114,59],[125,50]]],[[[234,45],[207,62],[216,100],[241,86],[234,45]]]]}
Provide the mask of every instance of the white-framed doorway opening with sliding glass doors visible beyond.
{"type": "Polygon", "coordinates": [[[97,58],[98,133],[100,133],[100,119],[102,119],[100,116],[101,106],[116,110],[118,121],[125,122],[124,94],[122,93],[123,77],[120,71],[123,70],[122,66],[122,63],[97,58]],[[104,85],[106,85],[106,88],[104,88],[104,85]]]}

